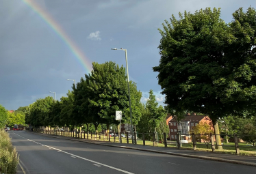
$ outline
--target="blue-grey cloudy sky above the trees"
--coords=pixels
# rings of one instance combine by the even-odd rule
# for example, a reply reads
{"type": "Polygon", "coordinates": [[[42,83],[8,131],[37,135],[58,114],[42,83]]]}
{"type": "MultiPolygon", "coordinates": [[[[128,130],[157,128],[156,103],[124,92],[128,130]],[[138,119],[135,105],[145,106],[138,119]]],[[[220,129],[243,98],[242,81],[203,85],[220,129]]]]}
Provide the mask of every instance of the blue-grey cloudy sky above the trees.
{"type": "Polygon", "coordinates": [[[185,10],[216,7],[229,23],[238,8],[256,8],[255,0],[0,0],[0,4],[0,104],[8,110],[54,96],[49,91],[60,100],[71,90],[73,81],[66,79],[79,82],[92,62],[125,66],[125,52],[111,48],[127,49],[129,78],[142,91],[141,101],[146,102],[153,89],[163,104],[152,67],[159,64],[157,29],[162,29],[164,20],[172,14],[178,18],[185,10]],[[36,4],[52,23],[29,4],[36,4]]]}

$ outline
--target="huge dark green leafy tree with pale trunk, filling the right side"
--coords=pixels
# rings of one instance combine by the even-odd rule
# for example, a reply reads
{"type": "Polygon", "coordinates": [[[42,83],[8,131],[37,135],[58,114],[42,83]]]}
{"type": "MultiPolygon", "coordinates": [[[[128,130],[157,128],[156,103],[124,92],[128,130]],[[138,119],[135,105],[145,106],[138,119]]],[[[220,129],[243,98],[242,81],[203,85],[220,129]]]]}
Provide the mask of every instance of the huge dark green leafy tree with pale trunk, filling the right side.
{"type": "MultiPolygon", "coordinates": [[[[165,21],[153,70],[168,107],[209,115],[216,134],[219,117],[255,111],[255,14],[240,8],[227,25],[220,9],[206,8],[165,21]]],[[[220,145],[220,136],[216,141],[220,145]]]]}

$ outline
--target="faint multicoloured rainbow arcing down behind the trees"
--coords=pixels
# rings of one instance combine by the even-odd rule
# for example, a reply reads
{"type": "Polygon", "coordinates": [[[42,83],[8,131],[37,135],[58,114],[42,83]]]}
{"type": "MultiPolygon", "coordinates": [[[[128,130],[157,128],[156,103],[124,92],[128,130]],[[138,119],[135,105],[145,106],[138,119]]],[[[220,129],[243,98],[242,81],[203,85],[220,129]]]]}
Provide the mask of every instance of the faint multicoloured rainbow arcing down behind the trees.
{"type": "Polygon", "coordinates": [[[49,15],[45,10],[40,8],[40,6],[33,0],[23,0],[34,12],[36,12],[48,25],[55,31],[57,35],[66,43],[68,48],[71,49],[73,55],[77,57],[78,61],[81,62],[82,66],[89,73],[92,71],[92,63],[90,60],[82,53],[79,47],[71,40],[71,38],[65,33],[65,31],[57,24],[57,22],[49,15]]]}

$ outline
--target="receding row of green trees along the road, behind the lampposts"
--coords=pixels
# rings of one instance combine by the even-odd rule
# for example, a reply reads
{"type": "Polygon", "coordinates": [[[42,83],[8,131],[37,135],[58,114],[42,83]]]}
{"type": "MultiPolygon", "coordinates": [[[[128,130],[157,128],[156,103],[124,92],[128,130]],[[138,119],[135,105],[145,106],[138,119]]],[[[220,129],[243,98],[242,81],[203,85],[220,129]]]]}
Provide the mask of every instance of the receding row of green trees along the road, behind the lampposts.
{"type": "MultiPolygon", "coordinates": [[[[153,91],[149,100],[142,104],[142,93],[136,83],[129,81],[131,96],[131,113],[133,125],[142,132],[155,130],[168,132],[162,126],[166,110],[158,106],[153,91]]],[[[122,111],[123,123],[129,123],[129,100],[125,68],[109,61],[102,64],[92,63],[91,74],[86,74],[79,83],[73,85],[66,97],[54,103],[52,97],[38,99],[29,105],[26,123],[32,126],[51,127],[84,127],[86,130],[109,130],[110,125],[116,128],[116,111],[122,111]]]]}

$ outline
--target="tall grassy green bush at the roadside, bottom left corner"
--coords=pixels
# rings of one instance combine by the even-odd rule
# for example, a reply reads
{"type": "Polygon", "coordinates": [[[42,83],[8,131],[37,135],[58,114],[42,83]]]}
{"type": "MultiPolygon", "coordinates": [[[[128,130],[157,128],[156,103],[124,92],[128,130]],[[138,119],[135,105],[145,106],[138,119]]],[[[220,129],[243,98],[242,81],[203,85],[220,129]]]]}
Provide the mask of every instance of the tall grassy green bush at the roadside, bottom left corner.
{"type": "Polygon", "coordinates": [[[12,147],[9,134],[0,130],[0,173],[16,173],[18,154],[12,147]]]}

